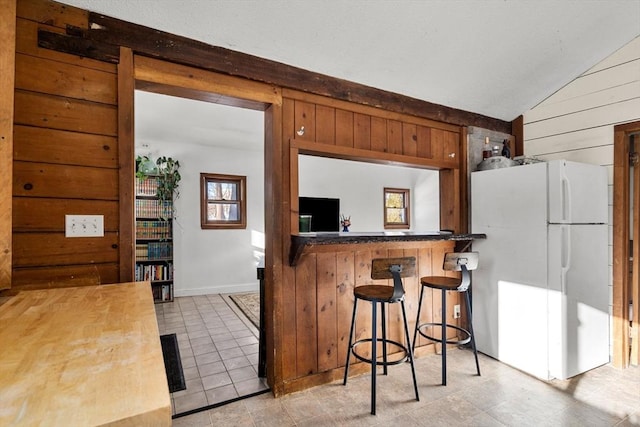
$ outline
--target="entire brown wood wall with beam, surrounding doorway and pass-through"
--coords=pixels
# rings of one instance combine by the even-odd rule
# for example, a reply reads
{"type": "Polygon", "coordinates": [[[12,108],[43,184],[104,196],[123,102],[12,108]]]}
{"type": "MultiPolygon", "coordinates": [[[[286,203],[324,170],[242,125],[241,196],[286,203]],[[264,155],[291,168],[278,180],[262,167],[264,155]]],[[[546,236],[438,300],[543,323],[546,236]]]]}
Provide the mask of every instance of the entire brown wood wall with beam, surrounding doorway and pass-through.
{"type": "MultiPolygon", "coordinates": [[[[346,357],[350,291],[355,285],[369,282],[370,259],[413,255],[418,258],[419,275],[427,275],[440,272],[445,247],[416,243],[341,246],[305,254],[298,267],[289,266],[290,235],[297,231],[297,153],[439,169],[441,228],[465,231],[465,213],[461,212],[466,199],[461,197],[465,191],[465,180],[461,179],[465,171],[465,156],[461,155],[465,150],[465,121],[500,128],[505,124],[442,106],[434,109],[432,104],[338,79],[329,78],[336,86],[322,80],[320,88],[335,93],[311,95],[305,93],[304,85],[316,81],[310,77],[315,76],[313,73],[294,70],[290,74],[285,71],[292,67],[48,0],[18,0],[11,185],[12,285],[16,290],[59,286],[59,282],[77,278],[82,283],[93,279],[112,283],[126,281],[126,275],[132,274],[126,271],[132,250],[126,245],[133,216],[129,212],[131,217],[127,217],[127,210],[132,209],[127,207],[131,188],[126,179],[133,170],[132,91],[137,83],[147,90],[157,89],[158,84],[175,85],[144,80],[144,61],[136,69],[142,74],[134,81],[134,58],[141,58],[141,53],[155,61],[180,63],[201,71],[234,74],[233,70],[242,69],[254,73],[243,79],[229,76],[232,84],[246,81],[241,84],[244,89],[269,76],[286,77],[279,81],[289,86],[272,86],[271,94],[277,98],[274,102],[254,98],[251,87],[244,95],[234,92],[225,94],[226,98],[218,97],[218,102],[239,100],[246,102],[244,106],[266,108],[267,375],[276,395],[340,376],[346,357]],[[90,20],[104,25],[90,30],[90,20]],[[38,30],[48,34],[40,39],[46,49],[39,45],[38,30]],[[51,34],[60,35],[60,45],[51,34]],[[167,47],[176,45],[182,47],[167,47]],[[70,50],[73,53],[62,53],[70,50]],[[114,52],[120,52],[120,56],[114,52]],[[353,102],[351,95],[345,94],[356,94],[360,101],[353,102]],[[383,104],[373,102],[378,96],[384,98],[383,104]],[[437,121],[440,117],[447,123],[437,121]],[[302,126],[304,132],[299,133],[302,126]],[[104,215],[105,236],[65,238],[65,214],[104,215]]],[[[182,75],[188,84],[207,81],[198,76],[197,72],[182,75]]],[[[208,91],[189,88],[182,93],[202,95],[208,91]]],[[[1,224],[0,219],[0,233],[1,224]]],[[[415,316],[417,280],[406,281],[411,317],[415,316]]],[[[427,317],[437,319],[436,301],[439,299],[434,301],[429,292],[425,300],[427,317]]],[[[451,304],[456,302],[451,299],[451,304]]],[[[368,328],[367,307],[362,308],[359,335],[368,328]]],[[[391,313],[397,319],[398,313],[391,313]]],[[[397,330],[393,333],[399,334],[397,330]]],[[[431,347],[422,346],[420,351],[431,347]]],[[[353,372],[358,369],[363,368],[356,365],[353,372]]]]}

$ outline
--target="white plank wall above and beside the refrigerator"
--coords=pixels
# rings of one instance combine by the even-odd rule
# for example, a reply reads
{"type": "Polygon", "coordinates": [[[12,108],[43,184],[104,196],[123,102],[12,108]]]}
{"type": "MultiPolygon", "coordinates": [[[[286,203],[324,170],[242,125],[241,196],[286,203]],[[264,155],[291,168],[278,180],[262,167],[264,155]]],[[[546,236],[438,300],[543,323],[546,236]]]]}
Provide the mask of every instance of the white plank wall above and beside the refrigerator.
{"type": "MultiPolygon", "coordinates": [[[[524,152],[609,170],[609,285],[612,286],[613,127],[640,120],[640,37],[524,114],[524,152]]],[[[610,299],[613,296],[611,289],[610,299]]]]}

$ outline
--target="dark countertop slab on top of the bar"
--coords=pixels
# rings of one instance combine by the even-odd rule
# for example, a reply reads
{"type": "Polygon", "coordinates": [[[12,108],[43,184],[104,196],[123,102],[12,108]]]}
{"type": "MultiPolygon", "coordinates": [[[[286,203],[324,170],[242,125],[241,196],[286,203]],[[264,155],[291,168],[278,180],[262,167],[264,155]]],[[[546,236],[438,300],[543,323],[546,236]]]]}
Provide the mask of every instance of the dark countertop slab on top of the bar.
{"type": "Polygon", "coordinates": [[[486,234],[454,234],[448,231],[384,231],[384,232],[322,232],[299,233],[291,235],[291,252],[289,264],[296,265],[298,258],[306,246],[341,245],[380,242],[418,242],[452,240],[470,242],[486,239],[486,234]]]}

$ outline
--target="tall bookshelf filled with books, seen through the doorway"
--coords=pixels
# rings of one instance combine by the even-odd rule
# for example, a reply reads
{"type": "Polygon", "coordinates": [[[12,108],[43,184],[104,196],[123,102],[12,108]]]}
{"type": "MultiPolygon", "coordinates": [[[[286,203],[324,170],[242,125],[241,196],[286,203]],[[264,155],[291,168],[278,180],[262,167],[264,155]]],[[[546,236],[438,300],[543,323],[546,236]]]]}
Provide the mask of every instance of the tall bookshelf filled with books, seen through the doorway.
{"type": "Polygon", "coordinates": [[[156,303],[173,301],[173,201],[157,196],[158,177],[135,179],[135,280],[150,281],[156,303]]]}

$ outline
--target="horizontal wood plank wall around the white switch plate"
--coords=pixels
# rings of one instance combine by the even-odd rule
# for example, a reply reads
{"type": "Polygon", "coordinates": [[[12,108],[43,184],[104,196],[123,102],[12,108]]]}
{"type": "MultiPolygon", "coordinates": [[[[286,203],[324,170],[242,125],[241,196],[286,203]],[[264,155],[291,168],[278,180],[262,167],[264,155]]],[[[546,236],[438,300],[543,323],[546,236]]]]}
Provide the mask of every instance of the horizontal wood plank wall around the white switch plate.
{"type": "Polygon", "coordinates": [[[13,290],[119,281],[116,67],[39,48],[39,28],[87,23],[86,12],[49,5],[17,8],[13,290]],[[65,238],[65,214],[104,215],[104,237],[65,238]]]}

